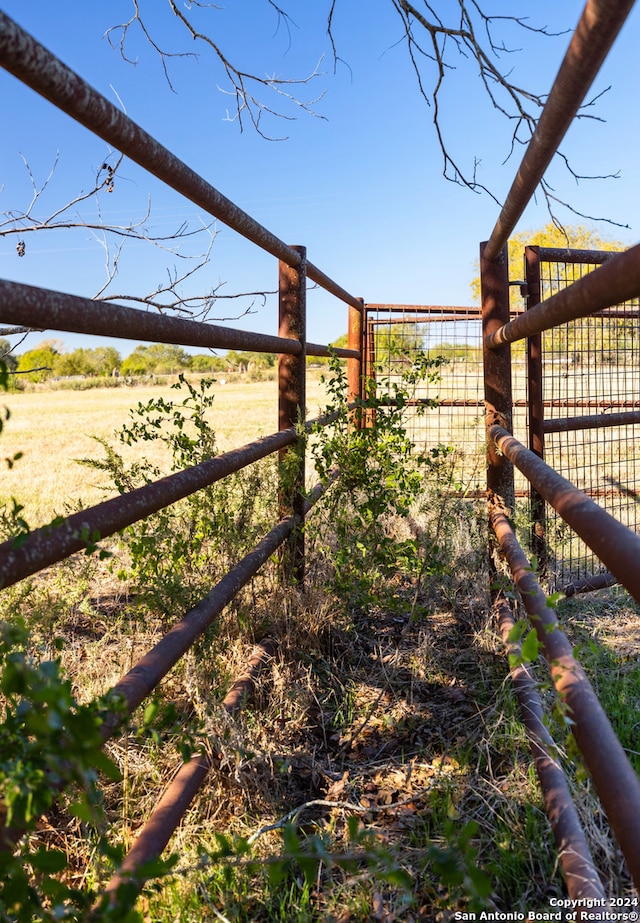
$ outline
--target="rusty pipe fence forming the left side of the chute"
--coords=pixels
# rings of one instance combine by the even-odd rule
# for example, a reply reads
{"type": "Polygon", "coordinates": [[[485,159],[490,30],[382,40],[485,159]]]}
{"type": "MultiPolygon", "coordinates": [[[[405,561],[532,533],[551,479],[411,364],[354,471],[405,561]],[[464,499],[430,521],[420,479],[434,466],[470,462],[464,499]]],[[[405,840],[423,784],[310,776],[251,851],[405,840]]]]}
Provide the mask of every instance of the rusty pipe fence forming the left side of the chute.
{"type": "MultiPolygon", "coordinates": [[[[299,434],[300,421],[303,422],[303,429],[310,432],[314,426],[329,424],[334,419],[334,415],[327,414],[317,420],[305,420],[306,357],[326,357],[333,353],[347,360],[348,399],[352,405],[360,390],[360,318],[363,302],[308,262],[304,247],[289,246],[258,224],[116,109],[2,11],[0,64],[89,131],[279,261],[277,336],[155,315],[116,303],[96,303],[65,292],[0,280],[0,317],[3,323],[30,329],[53,329],[181,346],[241,349],[279,355],[277,433],[75,513],[56,528],[37,529],[26,536],[21,545],[13,542],[0,545],[0,587],[6,588],[77,551],[94,546],[97,541],[114,535],[128,525],[260,459],[276,453],[281,458],[283,453],[297,453],[297,482],[293,498],[290,485],[286,494],[282,491],[280,521],[107,694],[107,700],[114,703],[114,710],[104,719],[102,730],[106,741],[285,543],[289,544],[289,554],[283,559],[286,562],[285,577],[292,582],[303,579],[304,544],[301,526],[326,487],[338,476],[338,472],[334,472],[328,485],[317,485],[312,491],[305,492],[304,439],[299,434]],[[308,279],[348,306],[348,349],[330,350],[326,345],[307,342],[305,296],[308,279]]],[[[222,708],[230,715],[240,709],[244,698],[251,691],[255,672],[273,653],[272,642],[266,641],[261,653],[252,658],[248,673],[231,688],[222,703],[222,708]]],[[[134,874],[142,861],[141,855],[159,855],[210,765],[208,759],[200,756],[185,764],[160,802],[160,820],[156,813],[143,828],[140,845],[134,847],[121,875],[134,874]],[[180,794],[176,798],[174,793],[178,790],[180,794]],[[171,810],[167,813],[165,808],[168,802],[171,803],[171,810]]],[[[8,830],[3,826],[5,817],[0,816],[0,848],[10,849],[20,836],[20,831],[8,830]]],[[[112,883],[109,893],[113,887],[112,883]]]]}

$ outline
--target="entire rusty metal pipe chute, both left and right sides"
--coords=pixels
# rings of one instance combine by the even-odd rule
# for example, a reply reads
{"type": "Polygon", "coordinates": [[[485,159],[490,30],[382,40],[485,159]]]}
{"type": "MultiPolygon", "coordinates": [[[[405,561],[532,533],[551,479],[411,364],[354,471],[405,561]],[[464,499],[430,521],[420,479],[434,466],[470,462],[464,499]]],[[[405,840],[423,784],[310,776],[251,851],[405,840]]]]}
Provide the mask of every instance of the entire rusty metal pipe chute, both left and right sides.
{"type": "MultiPolygon", "coordinates": [[[[611,258],[607,254],[606,261],[598,269],[516,318],[510,316],[506,246],[510,233],[542,179],[632,6],[632,0],[588,0],[505,206],[489,240],[481,246],[480,271],[489,525],[536,629],[555,687],[570,712],[576,742],[638,888],[640,783],[584,671],[573,657],[555,610],[548,605],[546,595],[516,539],[509,521],[517,495],[514,466],[584,538],[639,602],[640,538],[546,465],[536,452],[535,445],[528,449],[514,438],[513,408],[517,402],[513,399],[509,344],[527,337],[534,344],[535,351],[536,337],[542,331],[595,312],[615,312],[621,302],[637,298],[640,295],[640,246],[611,258]]],[[[67,293],[0,281],[2,323],[183,346],[269,351],[279,355],[278,433],[186,471],[176,472],[126,496],[76,513],[56,529],[36,530],[19,548],[11,543],[0,546],[0,585],[10,586],[95,543],[97,536],[106,538],[113,535],[138,519],[258,459],[273,453],[298,452],[300,473],[295,498],[291,501],[282,494],[280,521],[113,687],[111,695],[114,701],[124,703],[124,707],[115,709],[105,721],[106,740],[156,688],[194,641],[215,622],[224,607],[276,549],[288,543],[288,576],[298,581],[304,576],[304,545],[299,526],[325,488],[318,486],[307,497],[303,495],[304,453],[300,450],[296,427],[299,420],[304,419],[306,357],[329,355],[327,346],[306,342],[307,280],[317,283],[348,306],[348,348],[336,352],[348,360],[351,401],[361,393],[363,362],[366,360],[369,368],[374,364],[374,336],[378,321],[373,313],[365,310],[361,299],[351,295],[310,263],[303,247],[285,244],[258,224],[1,11],[0,64],[89,131],[279,261],[277,336],[151,315],[119,304],[96,304],[67,293]]],[[[403,313],[410,306],[380,304],[368,307],[374,313],[393,315],[394,312],[403,313]]],[[[443,318],[475,316],[472,309],[465,307],[443,306],[438,311],[443,318]]],[[[427,322],[428,318],[422,320],[427,322]]],[[[386,319],[379,323],[389,325],[392,322],[386,319]]],[[[397,322],[402,323],[402,320],[397,322]]],[[[541,398],[541,382],[532,381],[532,387],[536,393],[540,392],[541,398]]],[[[464,395],[451,400],[454,403],[459,401],[461,406],[477,404],[464,395]]],[[[637,423],[637,406],[633,403],[629,413],[618,415],[620,419],[615,417],[612,423],[637,423]]],[[[592,417],[575,419],[581,420],[584,428],[593,422],[592,417]]],[[[323,422],[328,422],[328,419],[323,422]]],[[[309,428],[311,422],[306,425],[309,428]]],[[[553,425],[562,428],[565,424],[556,420],[553,425]]],[[[567,427],[569,425],[567,421],[567,427]]],[[[496,563],[495,566],[499,565],[496,563]]],[[[591,585],[609,585],[610,582],[610,578],[599,576],[591,581],[591,585]]],[[[591,586],[578,582],[574,592],[588,588],[591,586]]],[[[510,640],[515,622],[511,605],[503,595],[496,594],[495,607],[505,645],[517,653],[517,645],[514,647],[514,642],[510,640]]],[[[257,670],[273,653],[269,640],[265,641],[262,649],[254,652],[246,674],[232,687],[222,703],[222,708],[230,715],[241,706],[241,700],[252,688],[257,670]]],[[[512,670],[512,679],[521,703],[523,721],[531,736],[534,763],[569,894],[575,898],[601,899],[603,888],[571,804],[569,787],[554,757],[553,741],[542,723],[540,700],[532,676],[521,665],[512,670]]],[[[198,754],[181,768],[142,829],[123,868],[109,884],[105,892],[107,899],[128,881],[133,880],[136,887],[142,885],[138,875],[141,865],[162,852],[213,765],[212,760],[211,756],[198,754]]],[[[4,834],[3,846],[9,848],[11,837],[6,835],[6,829],[4,834]]]]}

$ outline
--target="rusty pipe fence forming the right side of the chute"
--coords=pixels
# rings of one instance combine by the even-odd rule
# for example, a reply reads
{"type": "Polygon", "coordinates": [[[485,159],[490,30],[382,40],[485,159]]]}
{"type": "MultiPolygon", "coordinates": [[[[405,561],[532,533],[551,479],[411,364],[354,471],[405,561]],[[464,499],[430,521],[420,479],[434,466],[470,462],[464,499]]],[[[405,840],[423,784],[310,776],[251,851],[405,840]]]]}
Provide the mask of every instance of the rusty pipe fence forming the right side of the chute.
{"type": "MultiPolygon", "coordinates": [[[[481,245],[480,271],[483,312],[483,355],[485,376],[485,405],[487,432],[487,488],[489,525],[497,539],[493,559],[494,576],[503,565],[511,574],[514,587],[536,630],[538,642],[555,685],[557,695],[570,718],[571,730],[587,765],[600,802],[609,819],[612,831],[620,845],[627,868],[636,889],[640,889],[640,781],[627,755],[609,724],[597,697],[580,664],[573,657],[571,645],[558,623],[556,610],[549,604],[547,595],[533,572],[510,522],[514,511],[514,466],[530,482],[532,517],[540,527],[541,508],[548,502],[558,511],[562,520],[574,530],[609,569],[609,573],[577,581],[568,590],[581,592],[610,586],[617,579],[631,595],[640,601],[640,537],[618,522],[598,506],[586,493],[578,490],[542,460],[544,432],[577,429],[603,425],[593,417],[574,418],[573,421],[555,420],[547,430],[535,414],[530,412],[530,448],[514,438],[513,433],[513,382],[510,343],[527,339],[529,353],[529,401],[541,408],[543,400],[543,373],[540,360],[540,335],[577,318],[597,314],[619,316],[618,307],[640,295],[640,247],[612,255],[594,254],[588,257],[578,251],[575,261],[599,262],[598,268],[577,281],[570,282],[561,291],[541,298],[539,291],[529,290],[528,310],[515,318],[509,313],[509,274],[507,240],[516,222],[524,212],[534,190],[543,177],[546,167],[556,153],[592,80],[622,27],[633,3],[631,0],[589,0],[573,35],[556,81],[549,93],[547,104],[538,120],[536,131],[527,147],[516,179],[511,187],[490,239],[481,245]],[[539,303],[536,303],[539,302],[539,303]],[[578,422],[580,421],[580,422],[578,422]],[[613,575],[613,576],[612,576],[613,575]]],[[[532,250],[535,248],[528,248],[532,250]]],[[[572,262],[571,251],[549,251],[549,259],[572,262]]],[[[530,254],[527,255],[530,262],[530,254]]],[[[528,275],[529,279],[529,275],[528,275]]],[[[624,313],[624,312],[623,312],[624,313]]],[[[637,313],[637,312],[636,312],[637,313]]],[[[586,402],[577,400],[574,406],[586,402]]],[[[637,405],[630,402],[631,407],[637,405]]],[[[636,424],[635,409],[616,414],[612,425],[636,424]]],[[[594,491],[601,494],[602,491],[594,491]]],[[[534,529],[532,545],[541,547],[544,536],[534,529]]],[[[498,584],[499,585],[498,581],[498,584]]],[[[511,646],[510,628],[515,623],[510,602],[502,591],[494,590],[496,611],[507,647],[511,646]]],[[[543,792],[549,785],[558,785],[557,798],[568,809],[569,791],[562,780],[549,782],[543,777],[544,763],[549,758],[551,742],[541,735],[537,720],[537,704],[533,709],[527,699],[531,695],[531,676],[524,675],[522,666],[511,671],[512,680],[521,700],[523,720],[529,729],[532,748],[537,750],[536,764],[543,792]],[[524,683],[524,689],[522,684],[524,683]],[[524,695],[524,699],[523,699],[524,695]]],[[[557,767],[556,767],[557,768],[557,767]]],[[[556,835],[559,858],[570,895],[587,897],[598,893],[599,882],[592,874],[591,859],[585,852],[585,841],[579,822],[572,812],[565,834],[559,832],[557,804],[545,794],[547,813],[556,835]],[[577,824],[577,827],[576,827],[577,824]],[[565,839],[565,836],[567,839],[565,839]],[[576,837],[575,847],[570,846],[576,837]],[[564,845],[563,845],[564,844],[564,845]],[[564,850],[575,849],[577,862],[567,863],[564,850]],[[584,889],[587,890],[584,890],[584,889]],[[595,888],[591,892],[589,889],[595,888]]],[[[553,799],[552,799],[553,800],[553,799]]]]}

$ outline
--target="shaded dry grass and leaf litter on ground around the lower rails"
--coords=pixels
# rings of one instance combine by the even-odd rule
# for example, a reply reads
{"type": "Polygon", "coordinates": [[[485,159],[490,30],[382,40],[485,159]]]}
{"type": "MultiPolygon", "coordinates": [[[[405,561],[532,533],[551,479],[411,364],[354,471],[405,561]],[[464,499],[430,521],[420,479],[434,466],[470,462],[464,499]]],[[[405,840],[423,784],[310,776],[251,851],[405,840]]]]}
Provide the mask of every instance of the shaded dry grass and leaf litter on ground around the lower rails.
{"type": "MultiPolygon", "coordinates": [[[[451,566],[423,582],[417,608],[407,579],[398,578],[379,606],[349,613],[326,591],[283,594],[267,575],[172,671],[161,699],[177,707],[183,726],[201,724],[216,759],[170,845],[180,855],[177,876],[143,902],[149,919],[444,920],[467,902],[435,874],[429,850],[450,848],[470,820],[478,825],[477,861],[492,883],[490,908],[548,909],[564,893],[477,545],[473,528],[456,534],[447,547],[451,566]],[[277,654],[254,701],[232,721],[217,703],[264,634],[277,640],[277,654]],[[413,876],[412,902],[366,864],[348,873],[325,861],[314,888],[305,890],[293,873],[284,892],[264,874],[238,871],[228,882],[219,865],[203,865],[202,850],[215,850],[216,834],[254,837],[253,855],[271,861],[281,836],[261,831],[295,808],[304,835],[321,837],[336,854],[349,849],[347,820],[357,816],[376,848],[413,876]]],[[[104,564],[93,567],[60,572],[46,597],[49,606],[66,597],[44,634],[65,637],[65,664],[83,697],[105,691],[164,630],[160,621],[142,621],[121,587],[108,592],[104,564]]],[[[595,619],[594,611],[589,631],[595,619]]],[[[624,621],[628,632],[640,630],[631,610],[624,621]]],[[[614,643],[613,610],[597,630],[614,643]]],[[[124,784],[105,789],[106,808],[125,847],[180,764],[179,736],[169,728],[162,748],[135,733],[109,744],[124,784]]],[[[604,818],[583,783],[576,792],[611,893],[628,893],[604,818]]],[[[77,875],[86,875],[82,833],[61,815],[56,837],[60,823],[77,875]]]]}

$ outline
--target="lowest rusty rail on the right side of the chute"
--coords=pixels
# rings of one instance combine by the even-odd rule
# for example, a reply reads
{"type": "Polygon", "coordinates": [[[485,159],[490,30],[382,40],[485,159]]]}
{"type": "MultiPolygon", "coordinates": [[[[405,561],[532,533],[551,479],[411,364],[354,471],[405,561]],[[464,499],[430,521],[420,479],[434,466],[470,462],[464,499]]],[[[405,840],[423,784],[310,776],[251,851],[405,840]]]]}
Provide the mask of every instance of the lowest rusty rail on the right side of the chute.
{"type": "MultiPolygon", "coordinates": [[[[511,606],[504,596],[495,602],[502,641],[510,655],[522,659],[520,642],[509,640],[515,627],[511,606]]],[[[544,724],[543,709],[530,668],[518,663],[510,670],[511,682],[529,737],[531,754],[540,781],[545,812],[549,818],[562,874],[569,897],[605,898],[604,888],[574,805],[567,778],[557,760],[557,747],[544,724]]]]}

